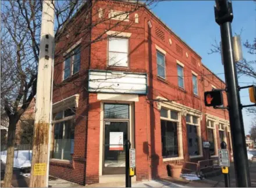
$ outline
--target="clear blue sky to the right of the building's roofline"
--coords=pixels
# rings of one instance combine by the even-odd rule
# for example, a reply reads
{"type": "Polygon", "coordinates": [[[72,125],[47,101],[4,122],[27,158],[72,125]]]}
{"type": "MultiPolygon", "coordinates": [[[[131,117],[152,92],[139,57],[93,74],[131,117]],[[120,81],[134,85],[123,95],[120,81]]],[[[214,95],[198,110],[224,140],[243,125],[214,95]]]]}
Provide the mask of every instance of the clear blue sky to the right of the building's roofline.
{"type": "MultiPolygon", "coordinates": [[[[232,31],[240,33],[242,42],[253,41],[256,36],[256,3],[253,1],[232,1],[234,19],[232,31]]],[[[221,33],[214,16],[215,1],[162,1],[152,11],[169,26],[180,38],[191,46],[202,57],[204,63],[214,73],[224,73],[221,64],[221,55],[215,53],[208,55],[211,45],[220,41],[221,33]]],[[[256,56],[249,55],[243,48],[243,56],[247,60],[253,60],[256,56]]],[[[255,65],[256,66],[256,65],[255,65]]],[[[225,80],[224,75],[219,75],[225,80]]],[[[256,82],[252,78],[241,77],[239,82],[256,82]]],[[[240,86],[249,84],[240,83],[240,86]]],[[[248,90],[240,92],[242,104],[251,104],[248,90]]],[[[251,118],[243,110],[244,128],[248,133],[251,126],[251,118]]],[[[232,125],[231,125],[232,126],[232,125]]]]}

